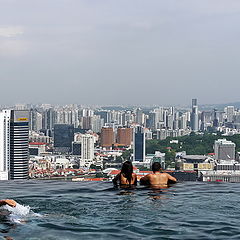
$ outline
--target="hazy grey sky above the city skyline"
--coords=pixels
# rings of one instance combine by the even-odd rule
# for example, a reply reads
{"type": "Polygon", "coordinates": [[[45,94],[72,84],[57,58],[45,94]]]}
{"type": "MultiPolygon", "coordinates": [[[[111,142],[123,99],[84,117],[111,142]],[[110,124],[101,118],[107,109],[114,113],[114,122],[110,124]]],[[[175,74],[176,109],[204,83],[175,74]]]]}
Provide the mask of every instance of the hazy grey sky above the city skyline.
{"type": "Polygon", "coordinates": [[[239,0],[0,0],[1,104],[240,100],[239,0]]]}

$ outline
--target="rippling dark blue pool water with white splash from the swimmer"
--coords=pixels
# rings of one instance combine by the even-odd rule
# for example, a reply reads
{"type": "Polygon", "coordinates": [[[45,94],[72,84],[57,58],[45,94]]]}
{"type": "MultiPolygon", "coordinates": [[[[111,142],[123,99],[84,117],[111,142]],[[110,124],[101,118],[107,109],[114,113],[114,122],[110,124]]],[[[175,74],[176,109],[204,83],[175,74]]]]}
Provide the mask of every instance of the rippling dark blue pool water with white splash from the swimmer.
{"type": "Polygon", "coordinates": [[[105,182],[0,186],[2,199],[25,206],[0,217],[2,239],[240,239],[240,184],[185,182],[161,191],[105,182]]]}

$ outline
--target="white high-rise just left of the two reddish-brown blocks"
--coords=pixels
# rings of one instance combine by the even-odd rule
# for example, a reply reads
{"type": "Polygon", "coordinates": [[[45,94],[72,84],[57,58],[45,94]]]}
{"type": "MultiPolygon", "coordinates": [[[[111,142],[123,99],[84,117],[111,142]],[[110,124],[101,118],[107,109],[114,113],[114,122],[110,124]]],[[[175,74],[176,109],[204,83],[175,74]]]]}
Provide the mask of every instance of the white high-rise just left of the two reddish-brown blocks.
{"type": "Polygon", "coordinates": [[[81,137],[81,165],[90,167],[94,159],[94,136],[83,134],[81,137]]]}

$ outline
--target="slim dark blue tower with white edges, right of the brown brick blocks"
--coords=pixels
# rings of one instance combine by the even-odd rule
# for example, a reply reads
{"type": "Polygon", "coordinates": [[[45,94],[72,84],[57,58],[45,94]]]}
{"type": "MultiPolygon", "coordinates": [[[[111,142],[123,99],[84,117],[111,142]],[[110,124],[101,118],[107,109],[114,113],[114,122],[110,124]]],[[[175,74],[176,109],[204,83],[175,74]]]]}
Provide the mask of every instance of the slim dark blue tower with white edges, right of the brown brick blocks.
{"type": "Polygon", "coordinates": [[[137,126],[133,134],[133,159],[134,161],[145,161],[145,133],[144,128],[137,126]]]}

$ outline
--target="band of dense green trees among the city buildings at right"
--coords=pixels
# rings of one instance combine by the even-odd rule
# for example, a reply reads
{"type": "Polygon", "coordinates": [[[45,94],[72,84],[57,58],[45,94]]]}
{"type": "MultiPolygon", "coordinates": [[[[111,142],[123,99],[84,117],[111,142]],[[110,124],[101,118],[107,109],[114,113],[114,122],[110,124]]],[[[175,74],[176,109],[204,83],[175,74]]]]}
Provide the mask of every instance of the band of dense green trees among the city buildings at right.
{"type": "Polygon", "coordinates": [[[146,142],[146,153],[153,154],[155,151],[166,153],[166,160],[172,160],[175,153],[181,151],[186,151],[188,155],[204,155],[213,153],[214,141],[222,138],[234,142],[236,144],[236,151],[240,152],[240,135],[238,134],[233,136],[221,136],[220,134],[213,135],[205,133],[203,135],[197,135],[191,133],[189,136],[177,138],[168,137],[165,140],[148,140],[146,142]],[[178,140],[178,144],[171,144],[171,140],[178,140]]]}

